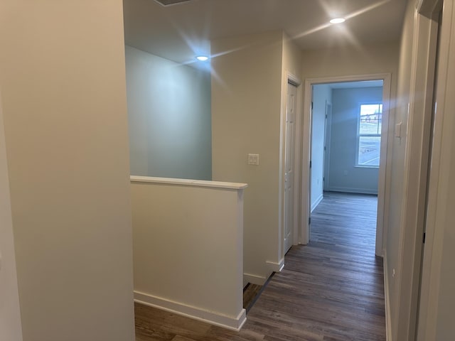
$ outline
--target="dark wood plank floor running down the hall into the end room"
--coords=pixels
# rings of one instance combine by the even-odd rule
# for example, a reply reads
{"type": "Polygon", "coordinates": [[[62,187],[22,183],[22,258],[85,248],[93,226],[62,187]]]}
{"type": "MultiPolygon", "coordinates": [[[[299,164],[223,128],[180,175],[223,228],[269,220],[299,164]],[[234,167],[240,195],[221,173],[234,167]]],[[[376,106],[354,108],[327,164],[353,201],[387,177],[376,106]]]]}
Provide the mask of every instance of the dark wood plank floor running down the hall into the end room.
{"type": "Polygon", "coordinates": [[[311,216],[311,242],[289,250],[240,332],[135,305],[137,340],[385,340],[375,217],[374,196],[326,193],[311,216]]]}

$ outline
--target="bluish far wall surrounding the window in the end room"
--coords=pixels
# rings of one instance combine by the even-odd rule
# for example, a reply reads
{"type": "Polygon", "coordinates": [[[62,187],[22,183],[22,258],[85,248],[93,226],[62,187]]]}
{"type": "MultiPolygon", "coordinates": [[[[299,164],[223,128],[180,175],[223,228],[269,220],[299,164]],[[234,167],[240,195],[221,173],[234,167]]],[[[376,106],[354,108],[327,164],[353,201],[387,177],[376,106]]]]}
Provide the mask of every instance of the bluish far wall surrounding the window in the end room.
{"type": "Polygon", "coordinates": [[[382,102],[382,87],[333,89],[328,190],[378,194],[379,168],[356,167],[359,104],[382,102]],[[346,173],[345,173],[346,172],[346,173]]]}

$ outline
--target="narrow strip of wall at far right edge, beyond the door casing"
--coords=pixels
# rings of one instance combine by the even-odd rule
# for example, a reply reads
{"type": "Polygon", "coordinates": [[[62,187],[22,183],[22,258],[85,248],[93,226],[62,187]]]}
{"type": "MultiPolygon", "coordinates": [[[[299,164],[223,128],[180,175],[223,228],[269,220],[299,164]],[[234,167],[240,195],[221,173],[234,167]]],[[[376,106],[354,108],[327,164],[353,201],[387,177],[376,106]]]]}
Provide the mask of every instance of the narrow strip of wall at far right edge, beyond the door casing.
{"type": "MultiPolygon", "coordinates": [[[[428,299],[431,310],[428,313],[430,324],[436,322],[435,340],[451,340],[455,335],[453,313],[455,310],[455,3],[444,1],[441,28],[441,50],[445,58],[439,59],[439,85],[437,90],[437,114],[435,126],[441,127],[441,135],[435,133],[435,139],[441,139],[439,150],[439,172],[434,176],[437,184],[437,202],[432,229],[433,247],[428,256],[432,266],[427,275],[432,285],[428,299]],[[445,84],[444,84],[445,83],[445,84]],[[444,86],[441,86],[444,84],[444,86]],[[445,87],[445,88],[444,88],[445,87]],[[445,93],[444,93],[445,90],[445,93]],[[441,123],[439,123],[441,122],[441,123]],[[438,262],[440,262],[438,264],[438,262]]],[[[437,129],[439,131],[439,129],[437,129]]],[[[439,146],[439,143],[437,143],[439,146]]],[[[435,152],[435,151],[434,151],[435,152]]],[[[431,179],[430,181],[432,181],[431,179]]],[[[432,242],[429,239],[429,242],[432,242]]],[[[427,248],[427,244],[425,245],[427,248]]],[[[425,249],[425,252],[427,250],[425,249]]],[[[432,331],[432,328],[428,328],[432,331]]],[[[427,335],[433,335],[431,332],[427,335]]]]}

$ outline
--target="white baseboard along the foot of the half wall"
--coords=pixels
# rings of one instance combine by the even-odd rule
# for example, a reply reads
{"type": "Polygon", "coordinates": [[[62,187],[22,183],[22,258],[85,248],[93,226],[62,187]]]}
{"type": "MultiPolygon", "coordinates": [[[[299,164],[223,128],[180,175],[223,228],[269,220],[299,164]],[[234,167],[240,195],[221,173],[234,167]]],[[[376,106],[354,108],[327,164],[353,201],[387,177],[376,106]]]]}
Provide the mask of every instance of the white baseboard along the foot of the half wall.
{"type": "Polygon", "coordinates": [[[185,305],[183,303],[168,301],[165,298],[151,296],[147,293],[140,293],[139,291],[134,291],[134,302],[186,316],[187,318],[193,318],[194,320],[210,323],[211,325],[218,325],[219,327],[236,330],[237,332],[247,320],[245,309],[240,310],[237,317],[231,317],[185,305]]]}

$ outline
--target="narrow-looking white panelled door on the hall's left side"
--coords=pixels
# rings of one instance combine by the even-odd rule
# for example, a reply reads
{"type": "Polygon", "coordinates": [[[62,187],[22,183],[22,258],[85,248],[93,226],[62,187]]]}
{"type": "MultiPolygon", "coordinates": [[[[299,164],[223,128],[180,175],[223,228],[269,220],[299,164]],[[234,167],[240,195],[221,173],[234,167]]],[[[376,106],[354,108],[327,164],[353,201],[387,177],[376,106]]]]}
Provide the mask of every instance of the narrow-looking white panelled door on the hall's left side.
{"type": "Polygon", "coordinates": [[[294,239],[294,144],[297,88],[288,83],[286,106],[286,144],[284,146],[284,253],[294,239]]]}

